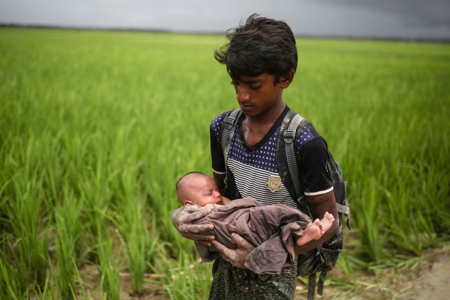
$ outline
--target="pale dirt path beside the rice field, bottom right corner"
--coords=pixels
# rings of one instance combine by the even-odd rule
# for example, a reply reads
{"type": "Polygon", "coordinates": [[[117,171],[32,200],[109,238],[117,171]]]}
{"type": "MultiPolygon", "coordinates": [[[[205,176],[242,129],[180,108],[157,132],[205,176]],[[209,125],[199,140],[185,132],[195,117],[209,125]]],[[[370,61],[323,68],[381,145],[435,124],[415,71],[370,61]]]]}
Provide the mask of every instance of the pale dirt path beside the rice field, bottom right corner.
{"type": "MultiPolygon", "coordinates": [[[[339,269],[330,272],[331,278],[343,278],[339,269]]],[[[447,300],[450,299],[450,246],[427,250],[417,267],[410,271],[396,268],[373,275],[358,273],[356,283],[347,288],[325,284],[323,296],[316,300],[447,300]]],[[[330,279],[330,278],[329,278],[330,279]]],[[[327,280],[325,281],[327,282],[327,280]]],[[[306,299],[306,285],[299,283],[295,300],[306,299]]]]}

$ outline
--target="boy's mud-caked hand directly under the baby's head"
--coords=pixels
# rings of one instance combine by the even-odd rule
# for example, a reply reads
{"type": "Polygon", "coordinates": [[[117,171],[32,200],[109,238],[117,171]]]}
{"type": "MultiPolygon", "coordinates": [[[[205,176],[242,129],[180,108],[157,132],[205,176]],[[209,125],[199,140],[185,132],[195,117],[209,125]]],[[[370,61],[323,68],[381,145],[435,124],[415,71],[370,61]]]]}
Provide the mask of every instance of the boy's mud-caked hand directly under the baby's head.
{"type": "Polygon", "coordinates": [[[211,246],[209,241],[215,240],[214,235],[202,235],[200,233],[214,229],[213,224],[196,225],[192,221],[200,219],[211,213],[210,209],[204,209],[199,205],[187,205],[180,207],[172,212],[173,226],[178,230],[181,236],[195,240],[204,246],[211,246]]]}

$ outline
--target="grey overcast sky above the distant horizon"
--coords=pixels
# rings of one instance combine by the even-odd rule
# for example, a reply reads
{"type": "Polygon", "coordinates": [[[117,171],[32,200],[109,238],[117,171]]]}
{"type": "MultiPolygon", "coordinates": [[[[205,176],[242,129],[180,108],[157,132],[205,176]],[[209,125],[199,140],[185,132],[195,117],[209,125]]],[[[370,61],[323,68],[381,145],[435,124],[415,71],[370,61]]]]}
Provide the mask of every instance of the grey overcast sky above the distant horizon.
{"type": "Polygon", "coordinates": [[[450,0],[0,0],[0,23],[224,33],[252,13],[297,35],[450,40],[450,0]]]}

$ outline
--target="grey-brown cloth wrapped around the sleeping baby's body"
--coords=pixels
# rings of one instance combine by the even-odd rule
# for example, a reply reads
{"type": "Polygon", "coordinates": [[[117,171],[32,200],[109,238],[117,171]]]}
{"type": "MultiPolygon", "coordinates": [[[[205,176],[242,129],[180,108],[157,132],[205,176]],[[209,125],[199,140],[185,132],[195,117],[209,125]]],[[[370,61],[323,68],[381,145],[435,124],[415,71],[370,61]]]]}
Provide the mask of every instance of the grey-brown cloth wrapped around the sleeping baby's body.
{"type": "MultiPolygon", "coordinates": [[[[293,236],[305,233],[311,219],[290,206],[263,205],[250,197],[233,200],[224,207],[215,208],[194,224],[214,224],[214,229],[203,234],[214,234],[217,241],[236,249],[231,233],[238,233],[255,248],[246,257],[245,267],[257,274],[279,275],[283,267],[295,260],[293,236]]],[[[210,262],[218,253],[207,246],[195,244],[201,260],[210,262]]]]}

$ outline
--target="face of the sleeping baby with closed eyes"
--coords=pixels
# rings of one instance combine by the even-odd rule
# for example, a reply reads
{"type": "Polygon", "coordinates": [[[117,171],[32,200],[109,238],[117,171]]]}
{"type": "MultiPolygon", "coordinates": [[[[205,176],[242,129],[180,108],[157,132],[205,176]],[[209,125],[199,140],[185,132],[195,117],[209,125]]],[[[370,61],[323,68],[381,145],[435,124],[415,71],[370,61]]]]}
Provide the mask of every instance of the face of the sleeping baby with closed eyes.
{"type": "Polygon", "coordinates": [[[209,176],[202,176],[192,184],[193,188],[189,188],[187,191],[190,194],[189,198],[192,201],[184,201],[185,204],[197,204],[200,206],[205,206],[208,203],[221,204],[222,195],[220,195],[216,183],[209,176]]]}

